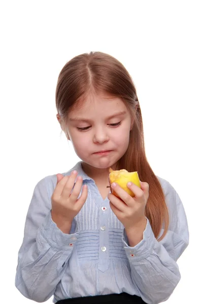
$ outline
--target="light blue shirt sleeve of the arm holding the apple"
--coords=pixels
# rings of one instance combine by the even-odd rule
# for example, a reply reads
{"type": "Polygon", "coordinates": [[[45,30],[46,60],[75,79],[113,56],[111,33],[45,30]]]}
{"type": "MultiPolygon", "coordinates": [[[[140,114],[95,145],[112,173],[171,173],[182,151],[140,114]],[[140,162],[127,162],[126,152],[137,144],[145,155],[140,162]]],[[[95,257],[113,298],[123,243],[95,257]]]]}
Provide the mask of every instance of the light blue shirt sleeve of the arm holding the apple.
{"type": "MultiPolygon", "coordinates": [[[[167,300],[181,279],[177,260],[189,243],[186,214],[179,195],[173,186],[165,184],[165,199],[170,225],[165,237],[158,242],[147,219],[143,240],[134,247],[128,246],[125,229],[122,241],[129,260],[133,284],[148,304],[167,300]]],[[[160,235],[162,235],[163,230],[160,235]]]]}

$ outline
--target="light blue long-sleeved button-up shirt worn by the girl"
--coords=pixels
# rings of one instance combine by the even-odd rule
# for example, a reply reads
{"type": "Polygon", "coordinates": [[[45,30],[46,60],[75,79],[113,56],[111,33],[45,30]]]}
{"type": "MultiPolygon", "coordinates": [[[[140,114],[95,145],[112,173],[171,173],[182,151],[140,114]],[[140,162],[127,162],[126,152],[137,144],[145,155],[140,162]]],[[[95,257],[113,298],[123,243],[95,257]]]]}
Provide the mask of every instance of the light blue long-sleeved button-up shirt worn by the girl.
{"type": "MultiPolygon", "coordinates": [[[[64,298],[127,292],[149,304],[165,301],[180,281],[177,259],[189,242],[183,204],[173,186],[159,179],[170,215],[164,239],[158,242],[147,219],[143,240],[128,246],[125,229],[103,200],[82,162],[77,170],[88,186],[88,197],[74,218],[70,234],[51,218],[55,175],[40,180],[27,212],[19,250],[15,285],[27,298],[53,302],[64,298]]],[[[162,235],[163,230],[160,235],[162,235]]]]}

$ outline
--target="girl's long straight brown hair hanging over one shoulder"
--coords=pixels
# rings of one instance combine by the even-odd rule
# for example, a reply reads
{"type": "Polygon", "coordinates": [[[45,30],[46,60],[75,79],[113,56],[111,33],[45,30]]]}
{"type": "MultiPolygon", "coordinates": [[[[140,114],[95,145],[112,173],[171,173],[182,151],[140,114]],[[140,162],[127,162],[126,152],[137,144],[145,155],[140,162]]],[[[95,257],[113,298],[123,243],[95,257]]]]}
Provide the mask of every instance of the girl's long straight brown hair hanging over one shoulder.
{"type": "Polygon", "coordinates": [[[163,234],[158,239],[160,241],[168,229],[168,210],[161,184],[145,154],[142,113],[133,81],[125,67],[105,53],[85,53],[67,62],[59,73],[56,87],[56,108],[65,134],[67,113],[79,99],[85,98],[90,92],[121,98],[134,119],[129,146],[118,162],[118,170],[138,171],[140,180],[149,184],[145,215],[156,239],[164,227],[163,234]]]}

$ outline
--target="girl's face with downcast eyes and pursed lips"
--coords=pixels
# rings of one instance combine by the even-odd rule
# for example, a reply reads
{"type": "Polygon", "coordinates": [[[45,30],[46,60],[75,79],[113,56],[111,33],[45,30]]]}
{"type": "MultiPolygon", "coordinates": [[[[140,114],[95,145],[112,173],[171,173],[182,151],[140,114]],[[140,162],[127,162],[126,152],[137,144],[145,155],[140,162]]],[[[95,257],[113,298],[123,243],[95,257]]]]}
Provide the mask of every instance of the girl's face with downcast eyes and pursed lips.
{"type": "Polygon", "coordinates": [[[78,157],[100,169],[113,167],[125,154],[132,126],[120,98],[89,95],[67,117],[67,132],[78,157]]]}

